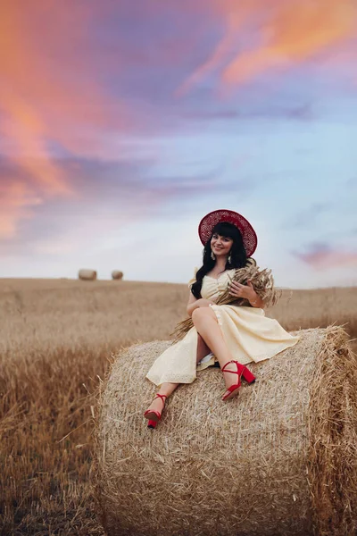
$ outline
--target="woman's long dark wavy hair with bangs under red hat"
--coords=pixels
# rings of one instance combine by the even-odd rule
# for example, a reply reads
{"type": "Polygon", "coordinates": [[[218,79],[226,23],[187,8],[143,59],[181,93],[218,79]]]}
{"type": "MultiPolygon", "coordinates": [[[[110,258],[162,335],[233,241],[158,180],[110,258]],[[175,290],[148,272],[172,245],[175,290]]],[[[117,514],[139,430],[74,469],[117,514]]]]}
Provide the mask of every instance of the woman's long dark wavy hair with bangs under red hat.
{"type": "Polygon", "coordinates": [[[233,239],[233,245],[230,249],[231,260],[230,263],[227,260],[225,270],[231,270],[232,268],[243,268],[246,264],[246,252],[245,245],[243,243],[243,238],[240,233],[240,230],[237,229],[236,225],[228,222],[217,223],[213,227],[212,235],[209,240],[207,240],[206,245],[203,248],[203,265],[195,274],[195,283],[191,287],[192,294],[199,299],[201,296],[202,281],[203,277],[211,272],[216,261],[212,259],[212,249],[211,249],[211,240],[213,234],[219,234],[221,237],[227,237],[228,239],[233,239]]]}

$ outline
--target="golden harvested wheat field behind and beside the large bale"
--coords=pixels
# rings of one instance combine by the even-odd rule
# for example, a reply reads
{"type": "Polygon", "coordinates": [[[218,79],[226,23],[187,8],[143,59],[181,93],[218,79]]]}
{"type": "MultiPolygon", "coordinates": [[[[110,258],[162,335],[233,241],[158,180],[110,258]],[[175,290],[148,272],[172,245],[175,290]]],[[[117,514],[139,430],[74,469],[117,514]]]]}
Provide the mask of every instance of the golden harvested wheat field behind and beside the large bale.
{"type": "MultiPolygon", "coordinates": [[[[336,322],[356,337],[357,289],[288,297],[267,312],[286,330],[336,322]]],[[[95,392],[122,348],[169,339],[186,301],[178,284],[0,280],[2,534],[104,534],[92,493],[95,392]]]]}

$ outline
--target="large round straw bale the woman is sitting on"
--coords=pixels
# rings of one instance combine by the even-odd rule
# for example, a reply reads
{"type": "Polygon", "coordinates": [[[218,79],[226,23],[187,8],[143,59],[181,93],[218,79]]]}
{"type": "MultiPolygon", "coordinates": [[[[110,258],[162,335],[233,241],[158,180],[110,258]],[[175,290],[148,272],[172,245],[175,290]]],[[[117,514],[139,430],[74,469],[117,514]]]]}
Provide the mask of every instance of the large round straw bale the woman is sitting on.
{"type": "Polygon", "coordinates": [[[145,373],[169,342],[112,365],[96,423],[95,493],[109,536],[352,535],[357,521],[357,363],[339,327],[300,331],[251,366],[222,402],[220,370],[199,373],[148,429],[145,373]]]}

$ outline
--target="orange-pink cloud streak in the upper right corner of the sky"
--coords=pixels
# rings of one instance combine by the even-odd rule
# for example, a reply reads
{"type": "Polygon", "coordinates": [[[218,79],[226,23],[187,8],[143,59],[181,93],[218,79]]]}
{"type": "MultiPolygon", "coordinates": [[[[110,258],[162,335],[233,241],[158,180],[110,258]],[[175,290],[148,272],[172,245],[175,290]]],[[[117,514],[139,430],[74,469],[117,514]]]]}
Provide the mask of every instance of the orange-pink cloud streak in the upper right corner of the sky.
{"type": "Polygon", "coordinates": [[[225,23],[224,36],[183,82],[179,95],[212,71],[220,71],[222,86],[227,88],[265,71],[309,60],[353,37],[357,20],[352,0],[212,0],[212,5],[225,23]],[[255,39],[251,47],[242,49],[237,36],[245,25],[251,26],[255,39]]]}

